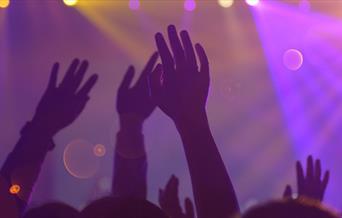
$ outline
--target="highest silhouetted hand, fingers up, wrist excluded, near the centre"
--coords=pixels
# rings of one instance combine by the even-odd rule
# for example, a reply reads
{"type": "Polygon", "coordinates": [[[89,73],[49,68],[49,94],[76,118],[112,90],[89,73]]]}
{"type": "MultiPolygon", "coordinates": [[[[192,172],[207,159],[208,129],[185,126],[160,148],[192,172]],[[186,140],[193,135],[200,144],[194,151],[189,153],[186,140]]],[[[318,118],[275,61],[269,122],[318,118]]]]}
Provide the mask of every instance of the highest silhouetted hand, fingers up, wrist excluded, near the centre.
{"type": "Polygon", "coordinates": [[[203,47],[196,44],[200,61],[198,70],[195,52],[187,31],[178,37],[175,26],[168,27],[172,54],[161,33],[155,35],[162,60],[151,75],[152,96],[160,109],[173,121],[205,114],[209,89],[209,63],[203,47]]]}

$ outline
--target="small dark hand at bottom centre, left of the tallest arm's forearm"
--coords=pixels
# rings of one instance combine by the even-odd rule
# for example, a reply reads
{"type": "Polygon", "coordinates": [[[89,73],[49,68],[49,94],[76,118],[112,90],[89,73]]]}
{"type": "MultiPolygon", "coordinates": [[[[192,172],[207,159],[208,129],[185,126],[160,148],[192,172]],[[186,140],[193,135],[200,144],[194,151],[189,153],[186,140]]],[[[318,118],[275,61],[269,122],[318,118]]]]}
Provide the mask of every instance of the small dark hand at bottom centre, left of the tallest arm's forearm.
{"type": "Polygon", "coordinates": [[[185,212],[179,203],[178,178],[171,176],[165,189],[159,189],[159,205],[171,218],[194,218],[194,206],[189,198],[185,199],[185,212]]]}

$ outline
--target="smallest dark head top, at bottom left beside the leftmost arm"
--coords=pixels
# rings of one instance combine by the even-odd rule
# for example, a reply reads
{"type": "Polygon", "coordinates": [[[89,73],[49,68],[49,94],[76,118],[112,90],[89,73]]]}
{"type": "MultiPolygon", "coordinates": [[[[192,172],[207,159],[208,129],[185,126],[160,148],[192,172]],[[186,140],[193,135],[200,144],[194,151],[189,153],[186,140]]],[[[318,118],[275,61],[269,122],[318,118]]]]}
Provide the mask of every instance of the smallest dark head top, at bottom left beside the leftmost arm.
{"type": "Polygon", "coordinates": [[[75,208],[54,202],[29,209],[23,218],[77,218],[78,214],[75,208]]]}

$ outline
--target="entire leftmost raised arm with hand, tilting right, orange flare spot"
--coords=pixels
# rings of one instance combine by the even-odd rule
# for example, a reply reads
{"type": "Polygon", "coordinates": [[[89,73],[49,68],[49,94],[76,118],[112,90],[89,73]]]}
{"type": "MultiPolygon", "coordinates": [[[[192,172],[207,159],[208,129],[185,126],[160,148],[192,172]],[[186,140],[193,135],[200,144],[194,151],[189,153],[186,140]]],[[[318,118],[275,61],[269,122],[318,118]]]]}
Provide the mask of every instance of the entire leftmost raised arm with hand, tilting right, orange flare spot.
{"type": "Polygon", "coordinates": [[[97,75],[93,75],[79,89],[88,62],[83,61],[80,64],[75,59],[63,81],[57,86],[58,68],[59,64],[54,64],[49,85],[33,119],[22,129],[18,143],[0,171],[8,186],[16,185],[18,193],[14,196],[21,212],[29,200],[47,152],[54,148],[53,136],[79,116],[89,100],[88,93],[97,80],[97,75]]]}

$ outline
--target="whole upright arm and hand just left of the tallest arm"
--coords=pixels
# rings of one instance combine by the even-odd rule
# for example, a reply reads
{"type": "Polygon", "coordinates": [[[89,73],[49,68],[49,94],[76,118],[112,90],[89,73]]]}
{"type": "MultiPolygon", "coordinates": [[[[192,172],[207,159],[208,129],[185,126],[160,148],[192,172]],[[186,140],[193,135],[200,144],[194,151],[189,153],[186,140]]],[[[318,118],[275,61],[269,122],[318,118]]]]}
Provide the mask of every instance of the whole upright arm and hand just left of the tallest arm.
{"type": "Polygon", "coordinates": [[[134,67],[130,66],[117,94],[120,130],[114,154],[112,193],[118,197],[146,199],[147,159],[143,123],[156,105],[150,97],[148,75],[153,70],[158,53],[154,53],[133,87],[134,67]]]}

